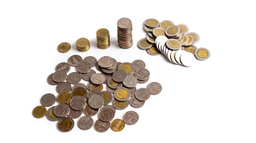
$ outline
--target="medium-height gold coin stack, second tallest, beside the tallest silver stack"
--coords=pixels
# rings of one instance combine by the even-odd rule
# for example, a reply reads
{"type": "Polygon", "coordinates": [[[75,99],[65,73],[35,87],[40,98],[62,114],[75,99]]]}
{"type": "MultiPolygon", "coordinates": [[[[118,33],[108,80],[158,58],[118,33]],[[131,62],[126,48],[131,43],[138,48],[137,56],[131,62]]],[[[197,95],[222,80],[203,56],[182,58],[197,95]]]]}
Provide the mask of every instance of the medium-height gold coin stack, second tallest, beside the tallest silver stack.
{"type": "Polygon", "coordinates": [[[96,32],[97,46],[100,49],[107,49],[110,47],[110,33],[107,29],[101,28],[96,32]]]}

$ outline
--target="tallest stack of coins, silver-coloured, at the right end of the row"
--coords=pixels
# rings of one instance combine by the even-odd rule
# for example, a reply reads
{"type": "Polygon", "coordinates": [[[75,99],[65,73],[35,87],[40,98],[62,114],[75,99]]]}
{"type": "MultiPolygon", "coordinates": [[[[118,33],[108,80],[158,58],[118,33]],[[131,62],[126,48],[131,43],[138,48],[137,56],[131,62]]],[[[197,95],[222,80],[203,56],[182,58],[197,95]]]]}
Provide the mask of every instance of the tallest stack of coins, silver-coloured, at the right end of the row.
{"type": "Polygon", "coordinates": [[[132,21],[129,18],[121,18],[117,21],[117,39],[123,49],[133,46],[132,21]]]}

